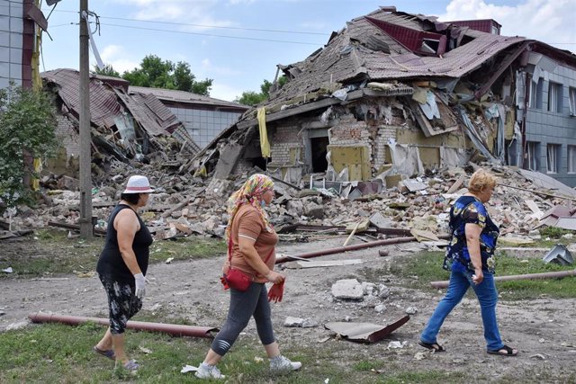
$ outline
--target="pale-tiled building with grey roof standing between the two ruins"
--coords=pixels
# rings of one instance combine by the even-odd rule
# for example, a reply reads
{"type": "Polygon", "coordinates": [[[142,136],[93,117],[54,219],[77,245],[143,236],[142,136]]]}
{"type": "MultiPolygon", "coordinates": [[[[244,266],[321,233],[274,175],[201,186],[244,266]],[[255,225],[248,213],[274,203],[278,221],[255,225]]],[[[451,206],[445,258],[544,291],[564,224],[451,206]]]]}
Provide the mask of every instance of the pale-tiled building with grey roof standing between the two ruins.
{"type": "Polygon", "coordinates": [[[184,124],[199,147],[208,145],[223,129],[238,121],[242,113],[250,108],[247,105],[175,89],[130,85],[129,92],[154,94],[184,124]]]}

